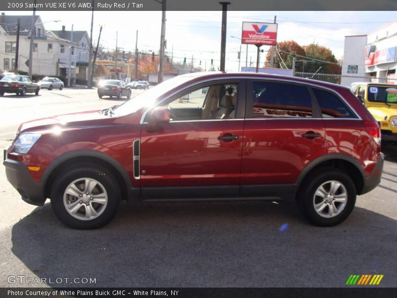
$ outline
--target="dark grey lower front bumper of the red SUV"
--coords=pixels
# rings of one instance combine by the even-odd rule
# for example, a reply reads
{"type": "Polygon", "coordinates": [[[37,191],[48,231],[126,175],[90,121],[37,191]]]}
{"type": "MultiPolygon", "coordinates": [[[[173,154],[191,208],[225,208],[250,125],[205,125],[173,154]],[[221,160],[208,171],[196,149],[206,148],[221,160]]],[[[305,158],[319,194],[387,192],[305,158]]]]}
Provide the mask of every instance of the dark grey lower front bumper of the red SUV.
{"type": "Polygon", "coordinates": [[[26,165],[9,158],[4,160],[3,165],[8,182],[18,191],[22,200],[32,205],[42,206],[46,201],[43,185],[33,181],[26,165]]]}

